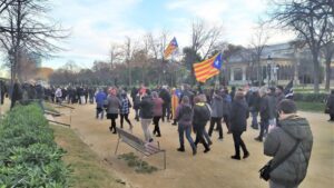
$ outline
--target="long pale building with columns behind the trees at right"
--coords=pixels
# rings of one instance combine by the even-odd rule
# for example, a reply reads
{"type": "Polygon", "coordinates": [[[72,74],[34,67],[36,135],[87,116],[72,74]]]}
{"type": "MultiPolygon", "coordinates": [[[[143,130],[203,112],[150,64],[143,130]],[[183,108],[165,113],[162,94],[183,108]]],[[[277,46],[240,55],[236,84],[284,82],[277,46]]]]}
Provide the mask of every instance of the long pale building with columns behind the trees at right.
{"type": "MultiPolygon", "coordinates": [[[[293,42],[265,46],[259,58],[253,51],[243,49],[226,60],[223,75],[228,85],[254,83],[257,78],[269,85],[286,85],[292,79],[297,85],[313,82],[314,68],[307,48],[295,48],[293,42]],[[259,59],[259,63],[255,59],[259,59]]],[[[321,82],[324,83],[325,65],[324,60],[321,62],[321,82]]],[[[334,86],[334,59],[331,65],[331,85],[334,86]]]]}

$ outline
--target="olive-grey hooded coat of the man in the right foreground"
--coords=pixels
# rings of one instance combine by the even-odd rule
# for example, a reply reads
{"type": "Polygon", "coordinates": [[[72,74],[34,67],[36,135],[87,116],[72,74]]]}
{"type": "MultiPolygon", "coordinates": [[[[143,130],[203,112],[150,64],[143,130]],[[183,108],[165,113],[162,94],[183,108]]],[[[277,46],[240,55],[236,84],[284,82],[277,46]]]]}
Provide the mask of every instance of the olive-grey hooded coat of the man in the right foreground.
{"type": "Polygon", "coordinates": [[[264,142],[264,154],[274,157],[273,164],[284,158],[297,139],[301,142],[292,156],[271,172],[271,180],[285,187],[295,187],[306,176],[313,145],[311,127],[305,118],[296,115],[279,120],[278,125],[267,135],[264,142]]]}

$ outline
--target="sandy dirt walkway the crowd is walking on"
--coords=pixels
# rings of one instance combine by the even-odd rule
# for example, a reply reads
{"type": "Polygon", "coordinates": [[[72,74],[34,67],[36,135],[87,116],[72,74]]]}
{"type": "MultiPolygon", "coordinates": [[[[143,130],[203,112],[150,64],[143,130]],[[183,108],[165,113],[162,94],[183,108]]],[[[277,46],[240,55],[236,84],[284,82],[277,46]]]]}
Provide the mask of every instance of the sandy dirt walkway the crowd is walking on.
{"type": "MultiPolygon", "coordinates": [[[[224,125],[224,141],[217,141],[218,135],[214,132],[212,151],[203,154],[204,148],[198,145],[198,154],[193,157],[189,145],[186,142],[186,152],[176,151],[178,147],[177,127],[161,123],[161,138],[155,138],[161,148],[167,150],[167,169],[153,175],[136,174],[124,161],[114,155],[117,135],[108,131],[109,120],[95,119],[95,105],[73,106],[72,129],[91,147],[101,158],[110,164],[110,168],[129,181],[134,187],[143,188],[266,188],[267,182],[258,178],[258,169],[269,159],[263,155],[263,145],[254,141],[258,131],[248,129],[243,135],[244,141],[250,152],[246,160],[235,161],[229,157],[234,155],[234,144],[230,135],[226,135],[224,125]]],[[[69,110],[61,109],[69,113],[69,110]]],[[[306,179],[301,188],[331,188],[334,186],[334,123],[327,122],[322,113],[302,112],[306,117],[314,133],[314,148],[306,179]]],[[[144,138],[139,122],[135,125],[134,133],[144,138]]],[[[69,122],[69,117],[59,120],[69,122]]],[[[119,126],[119,121],[118,121],[119,126]]],[[[125,123],[125,127],[128,126],[125,123]]],[[[151,126],[153,128],[153,126],[151,126]]],[[[153,129],[151,129],[153,130],[153,129]]],[[[120,144],[119,154],[134,151],[125,144],[120,144]]],[[[163,156],[146,159],[150,165],[163,168],[163,156]]]]}

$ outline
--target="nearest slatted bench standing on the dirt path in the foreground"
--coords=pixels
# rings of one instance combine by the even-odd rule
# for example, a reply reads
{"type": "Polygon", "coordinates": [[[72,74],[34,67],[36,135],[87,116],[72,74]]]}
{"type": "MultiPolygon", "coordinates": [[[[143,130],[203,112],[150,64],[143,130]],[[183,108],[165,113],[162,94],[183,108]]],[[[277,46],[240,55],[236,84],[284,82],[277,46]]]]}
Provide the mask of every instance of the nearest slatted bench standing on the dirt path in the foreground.
{"type": "Polygon", "coordinates": [[[127,145],[129,145],[131,148],[136,149],[138,152],[141,154],[141,161],[144,157],[149,157],[155,154],[164,152],[164,169],[166,169],[166,150],[160,149],[159,142],[156,146],[153,142],[145,142],[140,138],[134,136],[130,132],[127,132],[118,127],[116,127],[116,130],[118,132],[118,141],[115,150],[115,155],[117,155],[119,142],[122,141],[127,145]]]}

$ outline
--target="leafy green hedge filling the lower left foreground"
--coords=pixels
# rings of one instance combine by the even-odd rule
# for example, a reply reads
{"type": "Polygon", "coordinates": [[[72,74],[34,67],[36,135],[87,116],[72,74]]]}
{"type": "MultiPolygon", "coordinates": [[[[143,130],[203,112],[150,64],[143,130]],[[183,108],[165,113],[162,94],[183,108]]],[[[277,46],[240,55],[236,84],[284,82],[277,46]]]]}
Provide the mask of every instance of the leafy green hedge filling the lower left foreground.
{"type": "Polygon", "coordinates": [[[69,187],[65,150],[37,105],[18,106],[0,123],[0,187],[69,187]]]}

